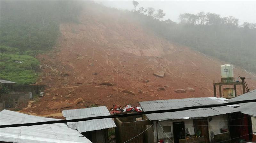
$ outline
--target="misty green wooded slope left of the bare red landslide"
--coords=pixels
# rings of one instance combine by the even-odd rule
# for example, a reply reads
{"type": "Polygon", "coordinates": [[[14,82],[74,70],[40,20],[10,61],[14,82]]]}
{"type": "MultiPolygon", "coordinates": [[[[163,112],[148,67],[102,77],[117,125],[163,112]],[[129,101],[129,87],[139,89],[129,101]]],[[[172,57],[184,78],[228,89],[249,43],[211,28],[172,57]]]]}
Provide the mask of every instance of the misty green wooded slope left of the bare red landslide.
{"type": "Polygon", "coordinates": [[[40,65],[34,58],[56,44],[63,22],[77,22],[72,1],[1,1],[1,79],[31,84],[40,65]]]}

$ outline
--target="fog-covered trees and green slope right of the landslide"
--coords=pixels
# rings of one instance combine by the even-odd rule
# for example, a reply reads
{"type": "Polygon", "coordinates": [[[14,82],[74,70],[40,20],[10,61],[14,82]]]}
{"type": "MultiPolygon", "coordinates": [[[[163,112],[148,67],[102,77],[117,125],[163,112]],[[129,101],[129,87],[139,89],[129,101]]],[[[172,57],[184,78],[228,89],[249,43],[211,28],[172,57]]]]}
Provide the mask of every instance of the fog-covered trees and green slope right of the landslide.
{"type": "Polygon", "coordinates": [[[219,14],[209,12],[180,14],[180,23],[170,19],[160,21],[165,14],[163,10],[155,11],[154,8],[140,7],[131,13],[146,28],[169,41],[256,72],[254,23],[238,25],[237,18],[222,18],[219,14]]]}

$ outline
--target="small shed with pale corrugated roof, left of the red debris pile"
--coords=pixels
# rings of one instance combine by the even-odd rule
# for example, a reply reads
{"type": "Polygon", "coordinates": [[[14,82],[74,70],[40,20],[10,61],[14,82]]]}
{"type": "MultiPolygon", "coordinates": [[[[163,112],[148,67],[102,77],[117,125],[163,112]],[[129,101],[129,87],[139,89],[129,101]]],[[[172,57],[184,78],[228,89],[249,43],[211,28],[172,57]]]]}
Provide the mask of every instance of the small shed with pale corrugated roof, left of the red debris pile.
{"type": "MultiPolygon", "coordinates": [[[[110,115],[106,106],[63,110],[62,114],[67,120],[110,115]]],[[[68,122],[67,125],[69,128],[80,132],[93,143],[108,143],[108,128],[116,127],[116,124],[112,118],[95,119],[74,123],[68,122]]]]}

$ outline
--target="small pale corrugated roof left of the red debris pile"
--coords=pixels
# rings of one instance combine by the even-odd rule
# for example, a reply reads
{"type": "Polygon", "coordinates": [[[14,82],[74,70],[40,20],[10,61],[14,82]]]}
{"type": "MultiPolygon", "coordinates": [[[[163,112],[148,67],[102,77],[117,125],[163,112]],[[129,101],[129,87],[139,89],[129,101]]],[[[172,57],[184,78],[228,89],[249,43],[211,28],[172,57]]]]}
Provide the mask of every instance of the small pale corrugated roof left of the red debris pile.
{"type": "MultiPolygon", "coordinates": [[[[110,115],[106,106],[84,108],[84,109],[63,110],[62,114],[67,120],[110,115]]],[[[116,124],[111,118],[80,121],[75,123],[69,122],[67,123],[67,125],[71,129],[77,130],[78,132],[88,132],[88,131],[95,131],[100,129],[116,127],[116,124]]]]}

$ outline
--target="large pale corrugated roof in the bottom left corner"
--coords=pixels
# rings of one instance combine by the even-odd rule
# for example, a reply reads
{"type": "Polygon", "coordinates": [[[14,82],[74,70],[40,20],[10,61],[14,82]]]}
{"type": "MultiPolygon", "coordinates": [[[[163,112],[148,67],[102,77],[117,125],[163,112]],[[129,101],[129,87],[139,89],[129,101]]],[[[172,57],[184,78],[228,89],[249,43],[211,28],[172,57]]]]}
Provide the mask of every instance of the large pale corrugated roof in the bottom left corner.
{"type": "MultiPolygon", "coordinates": [[[[14,111],[0,112],[0,125],[22,124],[58,120],[31,116],[14,111]]],[[[0,141],[15,143],[92,143],[79,132],[67,127],[65,123],[2,128],[0,141]]]]}

